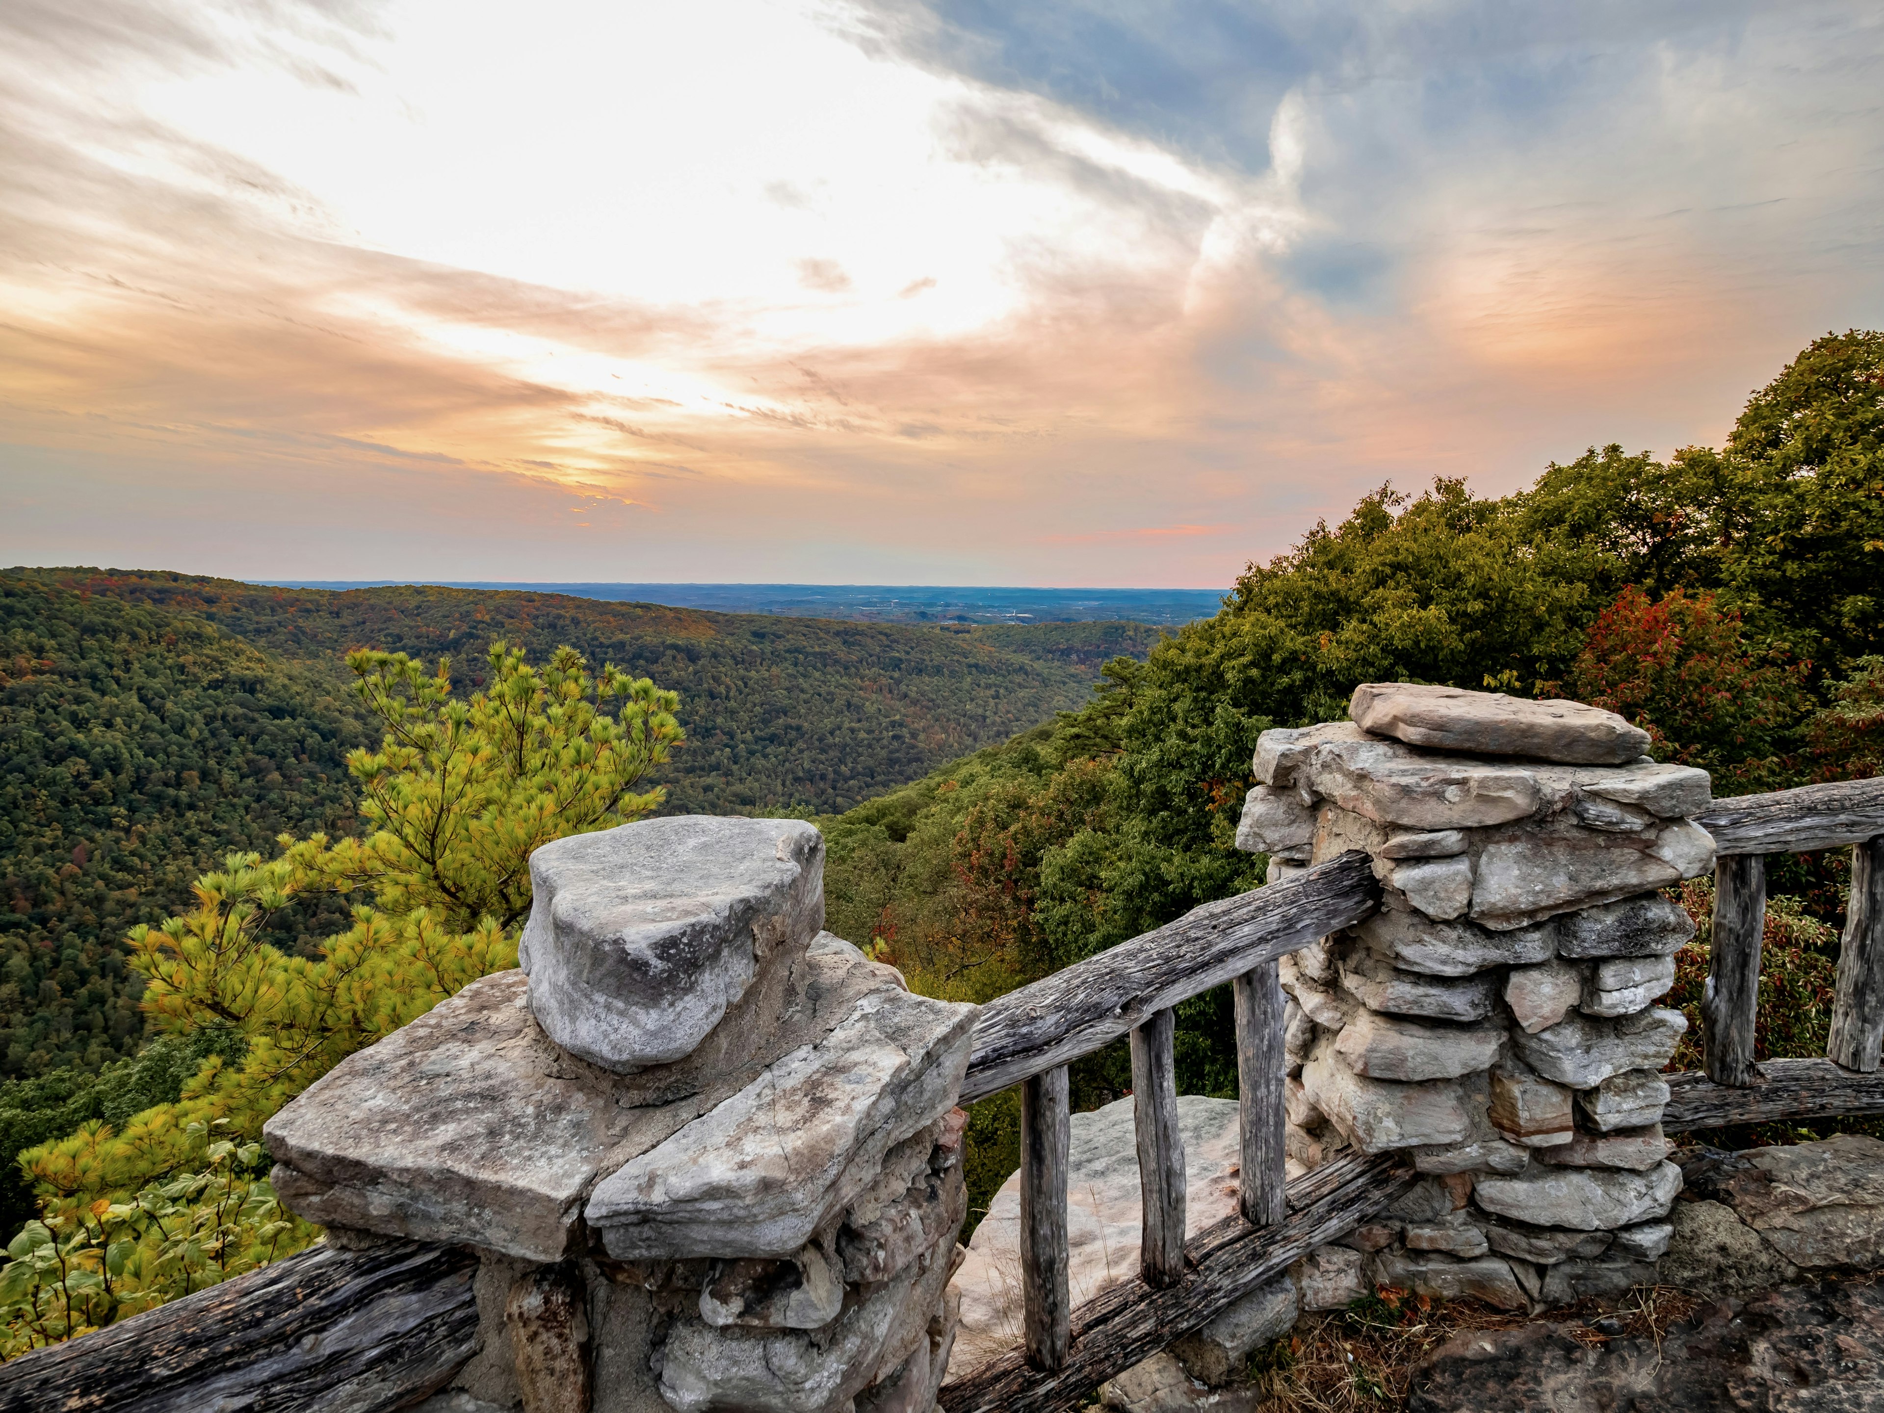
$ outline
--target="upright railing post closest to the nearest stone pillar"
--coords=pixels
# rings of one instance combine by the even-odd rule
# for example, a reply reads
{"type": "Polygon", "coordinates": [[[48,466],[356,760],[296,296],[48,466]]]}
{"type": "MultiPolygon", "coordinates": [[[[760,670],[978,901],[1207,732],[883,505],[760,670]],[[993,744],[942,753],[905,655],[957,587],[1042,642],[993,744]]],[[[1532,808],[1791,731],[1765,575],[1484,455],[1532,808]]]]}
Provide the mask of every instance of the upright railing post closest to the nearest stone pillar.
{"type": "Polygon", "coordinates": [[[1021,1309],[1027,1362],[1057,1370],[1072,1338],[1066,1262],[1066,1147],[1072,1140],[1066,1066],[1021,1085],[1021,1309]]]}

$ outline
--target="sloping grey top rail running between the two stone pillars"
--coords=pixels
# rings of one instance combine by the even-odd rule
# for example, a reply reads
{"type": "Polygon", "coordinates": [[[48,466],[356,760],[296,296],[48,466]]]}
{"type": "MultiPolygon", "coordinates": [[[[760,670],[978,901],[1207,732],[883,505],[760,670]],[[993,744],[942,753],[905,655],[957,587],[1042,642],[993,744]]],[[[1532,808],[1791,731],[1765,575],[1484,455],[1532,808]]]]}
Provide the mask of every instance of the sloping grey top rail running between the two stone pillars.
{"type": "Polygon", "coordinates": [[[1349,852],[1300,878],[1206,902],[982,1006],[961,1102],[1089,1055],[1153,1012],[1210,991],[1373,912],[1381,885],[1349,852]]]}

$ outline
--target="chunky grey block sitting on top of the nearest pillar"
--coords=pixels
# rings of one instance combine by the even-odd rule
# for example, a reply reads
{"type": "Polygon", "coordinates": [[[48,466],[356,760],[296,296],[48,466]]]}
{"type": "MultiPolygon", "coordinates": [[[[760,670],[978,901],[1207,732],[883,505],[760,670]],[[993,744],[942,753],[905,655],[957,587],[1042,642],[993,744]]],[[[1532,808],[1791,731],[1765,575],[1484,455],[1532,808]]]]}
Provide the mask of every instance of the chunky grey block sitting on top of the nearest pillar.
{"type": "Polygon", "coordinates": [[[676,816],[529,855],[518,948],[558,1046],[633,1074],[691,1055],[765,965],[823,927],[823,836],[797,820],[676,816]]]}

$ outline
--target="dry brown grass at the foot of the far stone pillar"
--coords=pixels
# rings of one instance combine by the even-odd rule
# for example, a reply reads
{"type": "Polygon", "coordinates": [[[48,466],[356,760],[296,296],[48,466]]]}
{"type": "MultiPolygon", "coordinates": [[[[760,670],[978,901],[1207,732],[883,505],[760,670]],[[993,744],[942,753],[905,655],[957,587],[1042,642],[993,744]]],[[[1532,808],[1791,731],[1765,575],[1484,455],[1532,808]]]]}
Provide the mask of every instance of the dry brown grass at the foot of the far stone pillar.
{"type": "MultiPolygon", "coordinates": [[[[1686,1319],[1694,1296],[1637,1287],[1620,1300],[1554,1309],[1549,1323],[1583,1343],[1652,1338],[1686,1319]]],[[[1434,1349],[1470,1330],[1509,1330],[1528,1317],[1473,1300],[1436,1302],[1381,1289],[1345,1311],[1304,1319],[1287,1341],[1251,1362],[1260,1413],[1390,1413],[1405,1407],[1413,1372],[1434,1349]]]]}

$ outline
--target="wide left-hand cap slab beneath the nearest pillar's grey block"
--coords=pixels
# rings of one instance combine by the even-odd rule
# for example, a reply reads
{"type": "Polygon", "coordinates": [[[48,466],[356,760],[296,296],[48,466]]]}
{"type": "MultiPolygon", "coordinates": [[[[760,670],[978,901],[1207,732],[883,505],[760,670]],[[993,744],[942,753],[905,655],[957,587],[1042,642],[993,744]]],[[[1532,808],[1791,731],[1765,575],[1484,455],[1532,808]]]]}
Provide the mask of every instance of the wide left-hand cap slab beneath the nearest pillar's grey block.
{"type": "Polygon", "coordinates": [[[895,972],[823,934],[780,974],[767,1010],[739,1012],[748,1053],[622,1076],[563,1053],[531,1019],[524,974],[497,972],[349,1055],[269,1119],[275,1191],[328,1226],[561,1260],[582,1245],[601,1174],[757,1078],[771,1053],[750,1053],[752,1036],[810,1046],[885,993],[902,995],[895,972]]]}

